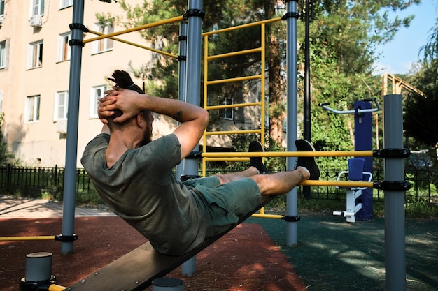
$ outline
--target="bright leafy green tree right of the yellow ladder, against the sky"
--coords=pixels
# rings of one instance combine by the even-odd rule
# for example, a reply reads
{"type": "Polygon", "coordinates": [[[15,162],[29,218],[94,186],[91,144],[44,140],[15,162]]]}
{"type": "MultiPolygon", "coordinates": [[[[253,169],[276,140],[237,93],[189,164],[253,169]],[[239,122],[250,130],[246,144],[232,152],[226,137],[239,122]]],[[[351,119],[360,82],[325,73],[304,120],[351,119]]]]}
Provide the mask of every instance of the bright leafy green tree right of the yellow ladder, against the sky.
{"type": "MultiPolygon", "coordinates": [[[[372,76],[375,47],[391,40],[400,27],[409,26],[413,17],[390,19],[387,11],[404,10],[418,2],[313,1],[311,135],[318,150],[353,149],[353,115],[323,112],[317,104],[352,110],[355,100],[381,95],[380,78],[372,76]]],[[[304,27],[299,26],[298,35],[304,43],[304,27]]],[[[304,64],[303,58],[300,53],[299,64],[304,64]]]]}

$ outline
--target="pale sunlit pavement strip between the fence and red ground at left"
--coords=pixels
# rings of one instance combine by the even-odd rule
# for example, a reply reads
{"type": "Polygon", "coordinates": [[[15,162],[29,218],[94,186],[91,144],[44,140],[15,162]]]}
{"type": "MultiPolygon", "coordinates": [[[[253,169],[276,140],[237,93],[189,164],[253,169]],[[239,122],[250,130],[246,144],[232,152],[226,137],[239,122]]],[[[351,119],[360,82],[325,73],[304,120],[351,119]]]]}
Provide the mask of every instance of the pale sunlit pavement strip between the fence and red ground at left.
{"type": "MultiPolygon", "coordinates": [[[[115,216],[108,209],[76,207],[76,217],[115,216]]],[[[15,199],[0,195],[0,219],[62,217],[62,203],[44,199],[15,199]]]]}

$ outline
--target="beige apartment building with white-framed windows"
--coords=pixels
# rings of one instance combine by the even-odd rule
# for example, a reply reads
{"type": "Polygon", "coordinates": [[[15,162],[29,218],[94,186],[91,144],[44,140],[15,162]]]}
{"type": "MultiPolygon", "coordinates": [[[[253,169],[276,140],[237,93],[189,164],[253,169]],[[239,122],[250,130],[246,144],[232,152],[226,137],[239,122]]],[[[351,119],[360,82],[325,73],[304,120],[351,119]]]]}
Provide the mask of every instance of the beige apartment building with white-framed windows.
{"type": "MultiPolygon", "coordinates": [[[[130,4],[143,2],[130,1],[130,4]]],[[[85,27],[92,31],[122,31],[118,23],[104,23],[99,15],[124,15],[118,4],[85,0],[85,27]]],[[[69,40],[73,0],[0,0],[0,110],[9,151],[21,165],[64,167],[69,98],[69,40]]],[[[95,37],[84,33],[84,39],[95,37]]],[[[118,36],[148,47],[139,32],[118,36]]],[[[83,47],[78,122],[78,167],[87,142],[101,130],[97,100],[111,87],[106,77],[115,69],[148,64],[149,50],[111,39],[83,47]]],[[[141,84],[141,80],[136,80],[141,84]]],[[[157,135],[173,124],[154,125],[157,135]],[[164,126],[164,127],[163,127],[164,126]]]]}

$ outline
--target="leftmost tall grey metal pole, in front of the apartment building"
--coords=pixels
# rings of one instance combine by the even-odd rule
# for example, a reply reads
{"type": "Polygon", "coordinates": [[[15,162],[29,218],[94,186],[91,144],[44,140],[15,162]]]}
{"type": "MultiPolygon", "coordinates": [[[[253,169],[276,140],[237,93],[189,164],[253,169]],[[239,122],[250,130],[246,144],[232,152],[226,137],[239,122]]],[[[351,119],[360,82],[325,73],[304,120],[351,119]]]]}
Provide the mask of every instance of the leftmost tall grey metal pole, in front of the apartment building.
{"type": "MultiPolygon", "coordinates": [[[[73,3],[73,25],[71,40],[83,40],[80,25],[84,21],[84,0],[73,3]]],[[[76,159],[78,153],[78,122],[80,68],[82,61],[82,45],[71,43],[70,80],[69,80],[69,112],[67,114],[66,163],[64,172],[64,201],[62,209],[62,236],[73,237],[75,200],[76,200],[76,159]]],[[[73,253],[73,241],[62,241],[61,253],[73,253]]]]}

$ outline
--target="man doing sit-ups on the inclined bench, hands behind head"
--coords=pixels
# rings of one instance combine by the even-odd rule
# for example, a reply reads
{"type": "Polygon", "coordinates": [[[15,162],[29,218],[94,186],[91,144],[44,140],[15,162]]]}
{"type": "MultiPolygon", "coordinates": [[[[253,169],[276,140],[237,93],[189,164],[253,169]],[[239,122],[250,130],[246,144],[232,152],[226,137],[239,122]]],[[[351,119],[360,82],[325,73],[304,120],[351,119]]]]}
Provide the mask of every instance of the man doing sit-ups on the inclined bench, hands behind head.
{"type": "MultiPolygon", "coordinates": [[[[261,195],[288,193],[319,177],[314,158],[298,158],[296,170],[274,174],[265,174],[262,158],[250,158],[243,172],[181,183],[172,170],[198,145],[209,114],[195,105],[141,94],[124,71],[116,70],[113,77],[117,85],[99,103],[104,128],[81,162],[102,199],[159,253],[188,253],[236,224],[257,207],[261,195]],[[151,141],[152,112],[180,125],[151,141]]],[[[295,144],[298,151],[314,151],[305,140],[295,144]]],[[[262,144],[251,142],[250,151],[263,151],[262,144]]]]}

